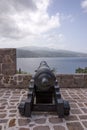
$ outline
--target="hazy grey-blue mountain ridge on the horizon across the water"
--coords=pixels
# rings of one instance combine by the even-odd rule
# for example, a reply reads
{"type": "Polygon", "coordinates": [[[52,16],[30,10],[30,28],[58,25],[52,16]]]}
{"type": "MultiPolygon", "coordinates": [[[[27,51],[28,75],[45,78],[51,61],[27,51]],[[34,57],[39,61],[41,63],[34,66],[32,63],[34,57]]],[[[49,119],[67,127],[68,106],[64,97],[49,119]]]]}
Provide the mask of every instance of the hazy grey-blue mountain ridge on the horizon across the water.
{"type": "Polygon", "coordinates": [[[42,47],[21,47],[17,48],[18,58],[30,57],[86,57],[86,53],[78,53],[66,50],[56,50],[42,47]]]}

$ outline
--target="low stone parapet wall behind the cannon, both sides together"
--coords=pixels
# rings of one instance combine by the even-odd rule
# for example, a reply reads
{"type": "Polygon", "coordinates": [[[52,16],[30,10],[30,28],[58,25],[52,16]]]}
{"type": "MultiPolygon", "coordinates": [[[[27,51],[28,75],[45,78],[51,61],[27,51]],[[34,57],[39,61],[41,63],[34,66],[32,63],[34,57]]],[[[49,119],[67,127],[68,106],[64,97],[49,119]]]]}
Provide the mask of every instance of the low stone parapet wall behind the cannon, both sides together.
{"type": "MultiPolygon", "coordinates": [[[[86,74],[59,74],[56,76],[60,88],[87,88],[86,74]]],[[[0,75],[0,88],[28,88],[31,75],[0,75]]]]}

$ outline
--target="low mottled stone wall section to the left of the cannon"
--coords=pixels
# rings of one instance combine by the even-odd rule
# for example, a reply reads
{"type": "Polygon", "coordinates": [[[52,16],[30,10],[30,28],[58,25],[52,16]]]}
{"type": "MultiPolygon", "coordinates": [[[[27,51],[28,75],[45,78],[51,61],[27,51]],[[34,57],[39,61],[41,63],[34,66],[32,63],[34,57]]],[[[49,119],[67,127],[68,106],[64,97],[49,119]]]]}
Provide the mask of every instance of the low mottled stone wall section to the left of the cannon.
{"type": "Polygon", "coordinates": [[[0,88],[28,88],[31,75],[0,75],[0,88]]]}

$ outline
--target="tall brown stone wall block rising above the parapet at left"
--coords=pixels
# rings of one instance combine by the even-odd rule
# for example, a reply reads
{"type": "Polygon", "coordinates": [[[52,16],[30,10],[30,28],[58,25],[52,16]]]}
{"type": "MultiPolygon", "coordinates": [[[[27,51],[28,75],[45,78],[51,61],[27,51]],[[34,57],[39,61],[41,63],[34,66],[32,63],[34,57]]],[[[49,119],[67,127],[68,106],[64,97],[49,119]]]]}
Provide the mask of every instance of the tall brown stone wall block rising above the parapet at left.
{"type": "Polygon", "coordinates": [[[0,49],[0,74],[16,74],[16,49],[0,49]]]}

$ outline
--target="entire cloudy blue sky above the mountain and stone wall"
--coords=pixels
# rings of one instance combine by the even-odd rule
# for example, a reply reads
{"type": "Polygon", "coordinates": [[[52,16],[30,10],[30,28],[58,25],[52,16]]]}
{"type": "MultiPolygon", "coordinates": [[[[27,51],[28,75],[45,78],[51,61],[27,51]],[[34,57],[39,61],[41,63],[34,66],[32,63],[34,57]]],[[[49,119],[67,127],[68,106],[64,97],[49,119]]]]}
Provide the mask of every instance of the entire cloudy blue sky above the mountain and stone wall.
{"type": "Polygon", "coordinates": [[[87,53],[87,0],[0,0],[0,48],[87,53]]]}

